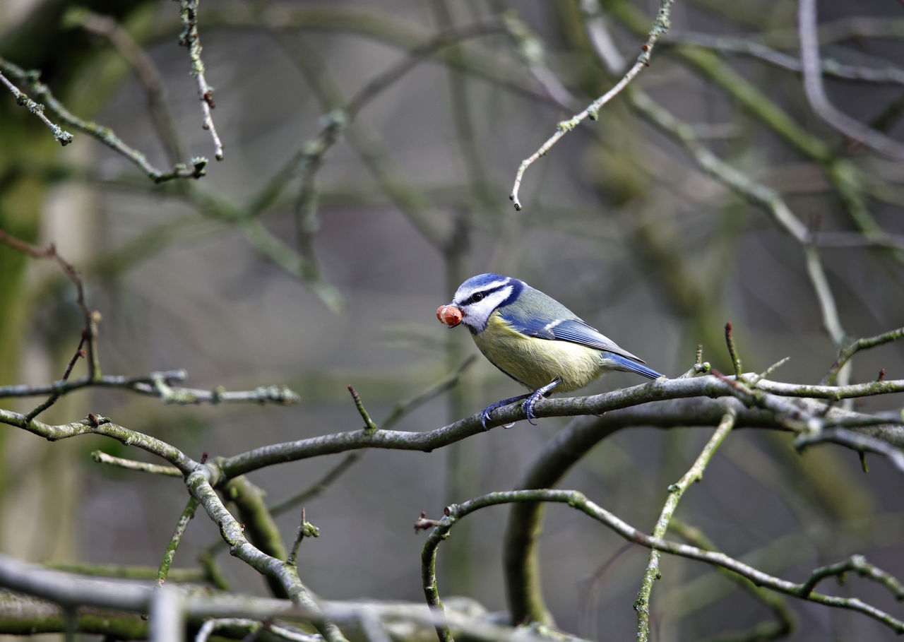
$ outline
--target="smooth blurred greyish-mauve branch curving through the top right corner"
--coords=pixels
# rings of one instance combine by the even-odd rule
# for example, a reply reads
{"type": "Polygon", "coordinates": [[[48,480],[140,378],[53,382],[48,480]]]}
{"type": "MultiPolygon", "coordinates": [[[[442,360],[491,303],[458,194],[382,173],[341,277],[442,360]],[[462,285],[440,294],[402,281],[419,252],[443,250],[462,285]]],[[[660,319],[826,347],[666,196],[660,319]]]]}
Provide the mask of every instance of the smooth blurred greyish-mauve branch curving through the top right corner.
{"type": "Polygon", "coordinates": [[[816,35],[816,0],[797,1],[797,28],[800,33],[800,60],[804,71],[804,90],[810,107],[823,120],[872,150],[904,160],[904,146],[867,127],[859,120],[835,109],[825,95],[819,41],[816,35]]]}

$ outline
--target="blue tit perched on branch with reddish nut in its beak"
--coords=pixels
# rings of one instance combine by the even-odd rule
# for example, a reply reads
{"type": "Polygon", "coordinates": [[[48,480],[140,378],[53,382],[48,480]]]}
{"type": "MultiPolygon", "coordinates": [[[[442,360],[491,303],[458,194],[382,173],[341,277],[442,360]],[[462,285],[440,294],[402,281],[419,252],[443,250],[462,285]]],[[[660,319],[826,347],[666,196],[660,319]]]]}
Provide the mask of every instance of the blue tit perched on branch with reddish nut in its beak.
{"type": "Polygon", "coordinates": [[[533,405],[553,388],[569,392],[583,388],[607,370],[663,376],[579,316],[531,288],[501,274],[478,274],[458,286],[452,302],[437,310],[449,327],[464,324],[477,348],[516,382],[532,390],[496,401],[480,413],[486,428],[490,413],[513,401],[533,423],[533,405]]]}

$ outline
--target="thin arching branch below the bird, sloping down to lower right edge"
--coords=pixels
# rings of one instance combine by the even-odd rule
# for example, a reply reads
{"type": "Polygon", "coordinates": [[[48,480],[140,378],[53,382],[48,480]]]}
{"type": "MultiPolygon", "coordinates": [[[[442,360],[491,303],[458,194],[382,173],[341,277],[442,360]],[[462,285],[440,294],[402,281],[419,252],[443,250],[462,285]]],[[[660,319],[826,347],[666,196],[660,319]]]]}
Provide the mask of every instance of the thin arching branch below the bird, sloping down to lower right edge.
{"type": "MultiPolygon", "coordinates": [[[[869,618],[873,618],[884,624],[896,633],[904,633],[904,621],[893,618],[885,611],[878,609],[859,600],[857,598],[841,598],[831,595],[823,595],[821,593],[812,592],[813,587],[810,581],[802,584],[796,582],[782,580],[773,575],[759,571],[758,569],[740,562],[739,560],[726,555],[723,552],[706,551],[689,544],[676,543],[665,540],[662,537],[648,535],[639,531],[634,526],[626,524],[616,515],[609,513],[606,509],[591,502],[583,493],[574,490],[551,490],[541,489],[525,489],[514,490],[505,493],[491,493],[489,495],[470,499],[460,505],[449,505],[446,509],[446,516],[438,520],[438,525],[430,533],[428,543],[424,544],[425,552],[428,547],[435,549],[439,543],[447,538],[449,530],[461,518],[469,515],[476,510],[492,505],[511,504],[511,503],[527,503],[536,505],[540,502],[555,502],[567,504],[570,507],[579,510],[588,515],[590,518],[607,526],[607,528],[615,531],[629,542],[634,542],[661,552],[669,552],[681,557],[686,557],[700,562],[706,562],[712,566],[728,569],[739,574],[741,577],[747,578],[758,586],[775,590],[779,593],[790,595],[791,597],[801,600],[811,600],[825,606],[855,610],[869,618]]],[[[425,555],[422,554],[422,558],[425,555]]],[[[878,570],[877,570],[878,571],[878,570]]],[[[887,573],[885,574],[887,576],[887,573]]],[[[811,580],[812,581],[812,580],[811,580]]],[[[884,583],[884,582],[883,582],[884,583]]],[[[638,636],[640,637],[640,636],[638,636]]]]}

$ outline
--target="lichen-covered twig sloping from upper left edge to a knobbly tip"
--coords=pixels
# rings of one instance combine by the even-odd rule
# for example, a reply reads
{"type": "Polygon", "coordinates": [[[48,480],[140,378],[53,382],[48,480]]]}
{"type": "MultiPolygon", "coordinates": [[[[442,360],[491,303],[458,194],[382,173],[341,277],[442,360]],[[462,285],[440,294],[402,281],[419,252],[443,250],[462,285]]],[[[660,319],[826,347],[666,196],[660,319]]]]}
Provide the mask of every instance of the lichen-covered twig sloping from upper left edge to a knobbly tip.
{"type": "MultiPolygon", "coordinates": [[[[202,157],[192,159],[192,168],[188,168],[182,163],[177,163],[169,172],[162,172],[157,169],[148,162],[144,154],[127,146],[109,127],[103,127],[90,120],[82,120],[72,114],[59,100],[53,98],[51,90],[41,82],[41,73],[39,71],[24,71],[3,58],[0,58],[0,71],[19,82],[25,83],[29,90],[44,102],[47,109],[50,109],[62,122],[84,134],[88,134],[90,137],[97,138],[101,143],[118,154],[126,156],[155,183],[165,183],[174,178],[201,178],[204,175],[207,159],[202,157]]],[[[63,134],[65,133],[63,132],[63,134]]]]}

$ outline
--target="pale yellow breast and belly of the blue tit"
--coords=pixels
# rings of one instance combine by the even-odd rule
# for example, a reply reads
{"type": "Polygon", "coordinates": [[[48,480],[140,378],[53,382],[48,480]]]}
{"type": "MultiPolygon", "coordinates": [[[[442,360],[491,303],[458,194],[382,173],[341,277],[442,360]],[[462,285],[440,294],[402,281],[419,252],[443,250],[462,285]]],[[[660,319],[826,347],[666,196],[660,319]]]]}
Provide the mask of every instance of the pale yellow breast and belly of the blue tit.
{"type": "Polygon", "coordinates": [[[484,331],[472,335],[477,348],[497,368],[536,390],[553,379],[556,392],[583,388],[603,371],[598,350],[569,341],[526,336],[494,312],[484,331]]]}

